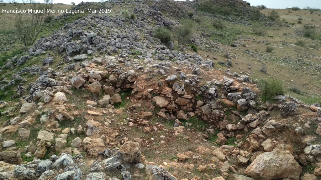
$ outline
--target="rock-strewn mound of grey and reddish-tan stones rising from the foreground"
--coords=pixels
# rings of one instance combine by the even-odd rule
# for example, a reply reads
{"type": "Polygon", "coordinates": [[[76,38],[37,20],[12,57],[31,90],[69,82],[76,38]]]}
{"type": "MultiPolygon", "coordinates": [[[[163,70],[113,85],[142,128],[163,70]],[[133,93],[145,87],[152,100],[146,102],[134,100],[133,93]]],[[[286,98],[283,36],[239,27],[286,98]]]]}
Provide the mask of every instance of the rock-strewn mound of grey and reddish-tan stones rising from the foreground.
{"type": "MultiPolygon", "coordinates": [[[[60,28],[0,69],[0,179],[321,179],[320,104],[283,91],[266,96],[282,85],[259,86],[257,77],[273,79],[266,66],[276,62],[243,51],[252,37],[236,29],[220,39],[227,35],[207,20],[288,24],[254,18],[259,11],[244,1],[216,3],[213,13],[211,1],[82,2],[74,9],[113,12],[65,13],[49,23],[60,28]],[[154,37],[188,16],[197,53],[154,37]]],[[[317,80],[306,86],[313,84],[319,88],[317,80]]]]}

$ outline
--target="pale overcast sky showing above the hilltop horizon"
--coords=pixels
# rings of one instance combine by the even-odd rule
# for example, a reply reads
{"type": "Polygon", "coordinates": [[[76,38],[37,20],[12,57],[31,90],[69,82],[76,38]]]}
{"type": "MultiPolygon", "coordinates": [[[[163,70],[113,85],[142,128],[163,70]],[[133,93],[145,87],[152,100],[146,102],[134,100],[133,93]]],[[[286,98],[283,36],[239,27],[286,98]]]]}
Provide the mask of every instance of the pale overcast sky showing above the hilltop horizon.
{"type": "MultiPolygon", "coordinates": [[[[9,0],[4,0],[9,1],[9,0]]],[[[21,2],[22,0],[17,0],[21,2]]],[[[36,0],[36,1],[42,1],[42,0],[36,0]]],[[[70,2],[73,1],[76,4],[79,4],[82,2],[82,0],[53,0],[53,3],[63,3],[63,4],[71,4],[70,2]]],[[[83,0],[84,2],[99,2],[99,0],[83,0]]],[[[311,7],[311,8],[319,8],[321,9],[321,0],[246,0],[247,2],[251,3],[252,6],[257,5],[265,5],[267,8],[271,9],[285,9],[285,8],[291,8],[294,6],[298,6],[299,8],[303,7],[311,7]]]]}

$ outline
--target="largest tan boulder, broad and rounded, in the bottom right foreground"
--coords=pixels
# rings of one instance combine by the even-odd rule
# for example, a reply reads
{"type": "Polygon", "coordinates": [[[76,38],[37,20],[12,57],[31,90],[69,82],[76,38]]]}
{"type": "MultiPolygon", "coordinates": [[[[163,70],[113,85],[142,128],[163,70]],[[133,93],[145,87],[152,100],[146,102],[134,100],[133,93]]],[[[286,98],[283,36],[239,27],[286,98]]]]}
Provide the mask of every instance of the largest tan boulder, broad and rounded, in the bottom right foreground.
{"type": "Polygon", "coordinates": [[[244,174],[264,180],[299,179],[301,171],[301,166],[294,160],[290,151],[275,148],[272,152],[265,152],[257,156],[246,168],[244,174]]]}

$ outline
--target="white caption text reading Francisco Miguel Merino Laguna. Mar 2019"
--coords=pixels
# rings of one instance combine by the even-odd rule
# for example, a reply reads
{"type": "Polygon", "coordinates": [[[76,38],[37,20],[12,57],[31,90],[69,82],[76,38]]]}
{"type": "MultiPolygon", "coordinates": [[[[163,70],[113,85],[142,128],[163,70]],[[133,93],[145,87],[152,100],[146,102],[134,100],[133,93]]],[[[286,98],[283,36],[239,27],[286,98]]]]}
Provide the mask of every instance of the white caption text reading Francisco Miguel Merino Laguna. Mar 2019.
{"type": "MultiPolygon", "coordinates": [[[[82,9],[2,9],[2,13],[84,13],[85,11],[82,9]]],[[[110,13],[110,9],[87,9],[87,13],[110,13]]]]}

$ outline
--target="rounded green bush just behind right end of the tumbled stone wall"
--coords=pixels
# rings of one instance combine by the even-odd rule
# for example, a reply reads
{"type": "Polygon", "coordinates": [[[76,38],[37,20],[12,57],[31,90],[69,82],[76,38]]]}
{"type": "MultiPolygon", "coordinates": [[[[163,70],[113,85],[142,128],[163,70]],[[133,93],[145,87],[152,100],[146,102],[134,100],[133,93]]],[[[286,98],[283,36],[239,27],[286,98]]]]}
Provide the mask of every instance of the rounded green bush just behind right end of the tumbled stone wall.
{"type": "Polygon", "coordinates": [[[258,86],[261,89],[261,97],[263,101],[273,100],[276,95],[283,95],[283,83],[279,79],[260,79],[258,86]]]}

